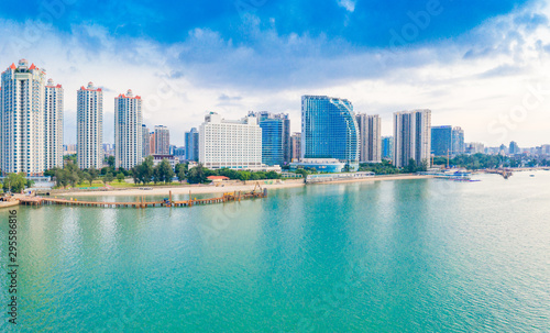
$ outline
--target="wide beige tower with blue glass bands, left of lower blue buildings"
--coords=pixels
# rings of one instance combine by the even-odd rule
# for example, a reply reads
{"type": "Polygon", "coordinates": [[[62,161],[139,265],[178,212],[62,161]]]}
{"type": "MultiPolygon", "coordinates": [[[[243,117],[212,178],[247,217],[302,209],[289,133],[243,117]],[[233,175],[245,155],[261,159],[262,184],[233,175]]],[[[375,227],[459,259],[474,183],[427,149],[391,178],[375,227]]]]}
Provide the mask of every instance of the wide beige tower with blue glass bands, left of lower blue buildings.
{"type": "Polygon", "coordinates": [[[430,166],[431,111],[414,110],[394,113],[394,165],[405,167],[414,159],[430,166]]]}

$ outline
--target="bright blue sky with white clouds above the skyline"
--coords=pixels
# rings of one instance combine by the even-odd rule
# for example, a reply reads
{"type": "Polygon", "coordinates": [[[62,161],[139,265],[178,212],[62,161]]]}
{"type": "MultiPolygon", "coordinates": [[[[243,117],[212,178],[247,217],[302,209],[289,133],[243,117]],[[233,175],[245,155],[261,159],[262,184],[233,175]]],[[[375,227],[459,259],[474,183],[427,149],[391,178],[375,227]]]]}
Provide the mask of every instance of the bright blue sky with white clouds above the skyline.
{"type": "Polygon", "coordinates": [[[76,143],[76,90],[103,88],[103,141],[114,97],[132,89],[144,123],[184,132],[209,111],[285,112],[300,131],[302,95],[345,98],[355,112],[430,109],[466,142],[550,144],[547,0],[3,0],[0,70],[25,58],[65,89],[65,143],[76,143]]]}

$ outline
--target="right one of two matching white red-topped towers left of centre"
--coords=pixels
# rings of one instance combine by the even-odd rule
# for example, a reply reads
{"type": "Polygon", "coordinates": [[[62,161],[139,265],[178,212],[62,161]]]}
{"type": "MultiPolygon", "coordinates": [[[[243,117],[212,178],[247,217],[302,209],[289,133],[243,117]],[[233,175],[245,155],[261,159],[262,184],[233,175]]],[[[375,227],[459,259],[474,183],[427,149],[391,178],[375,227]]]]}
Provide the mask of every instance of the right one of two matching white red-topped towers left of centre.
{"type": "Polygon", "coordinates": [[[114,98],[114,159],[131,169],[142,162],[142,99],[128,90],[114,98]]]}

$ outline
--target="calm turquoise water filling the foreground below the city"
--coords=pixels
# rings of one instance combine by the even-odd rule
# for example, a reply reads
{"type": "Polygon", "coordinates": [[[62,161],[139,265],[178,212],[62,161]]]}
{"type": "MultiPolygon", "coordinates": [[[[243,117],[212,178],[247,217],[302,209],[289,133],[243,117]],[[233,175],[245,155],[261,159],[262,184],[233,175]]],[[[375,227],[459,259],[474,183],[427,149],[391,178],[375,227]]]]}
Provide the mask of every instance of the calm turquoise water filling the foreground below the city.
{"type": "MultiPolygon", "coordinates": [[[[550,173],[19,208],[4,332],[548,332],[550,173]]],[[[7,265],[8,213],[0,211],[7,265]]]]}

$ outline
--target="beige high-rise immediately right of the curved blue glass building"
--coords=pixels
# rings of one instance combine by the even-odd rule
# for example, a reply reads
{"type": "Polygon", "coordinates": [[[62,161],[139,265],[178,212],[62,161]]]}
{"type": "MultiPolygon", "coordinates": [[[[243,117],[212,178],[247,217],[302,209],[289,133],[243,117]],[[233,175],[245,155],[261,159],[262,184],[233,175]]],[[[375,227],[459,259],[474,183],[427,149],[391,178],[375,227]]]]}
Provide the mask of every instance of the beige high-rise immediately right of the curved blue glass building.
{"type": "Polygon", "coordinates": [[[359,126],[359,160],[369,163],[382,162],[381,126],[382,120],[376,115],[359,113],[355,115],[359,126]]]}

